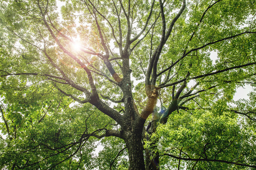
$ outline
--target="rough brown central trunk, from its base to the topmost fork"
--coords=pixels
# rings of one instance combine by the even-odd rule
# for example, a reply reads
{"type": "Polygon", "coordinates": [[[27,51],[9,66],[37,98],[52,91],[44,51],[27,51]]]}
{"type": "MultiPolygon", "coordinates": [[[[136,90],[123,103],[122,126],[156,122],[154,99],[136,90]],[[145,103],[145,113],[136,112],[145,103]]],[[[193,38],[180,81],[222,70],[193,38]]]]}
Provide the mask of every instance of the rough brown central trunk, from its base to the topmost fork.
{"type": "Polygon", "coordinates": [[[137,108],[134,104],[129,68],[128,52],[123,52],[122,68],[124,78],[119,83],[123,91],[125,112],[123,115],[123,124],[121,126],[121,138],[124,139],[129,157],[129,170],[145,170],[143,144],[142,144],[142,130],[145,119],[140,118],[136,112],[137,108]]]}

